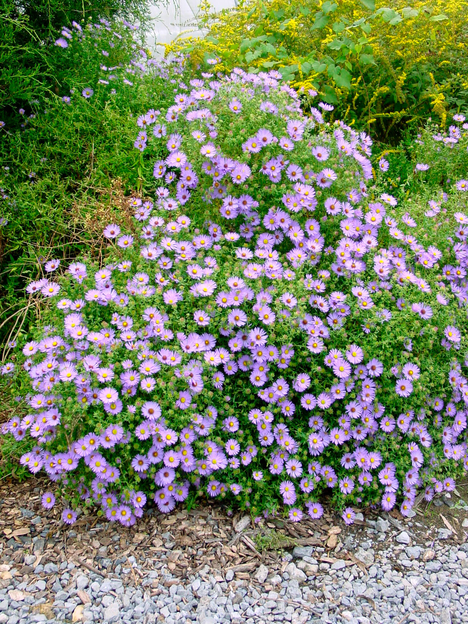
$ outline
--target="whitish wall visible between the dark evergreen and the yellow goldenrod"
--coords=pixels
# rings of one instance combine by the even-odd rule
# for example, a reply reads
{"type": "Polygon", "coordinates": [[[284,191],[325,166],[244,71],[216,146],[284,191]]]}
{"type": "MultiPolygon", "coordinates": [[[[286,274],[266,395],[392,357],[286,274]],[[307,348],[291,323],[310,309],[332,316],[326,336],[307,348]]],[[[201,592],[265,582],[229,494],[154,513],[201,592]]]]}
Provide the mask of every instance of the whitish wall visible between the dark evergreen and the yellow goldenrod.
{"type": "MultiPolygon", "coordinates": [[[[168,0],[165,7],[152,7],[154,21],[154,34],[148,37],[149,46],[156,51],[162,51],[158,43],[169,43],[182,32],[187,35],[200,35],[195,25],[195,17],[198,14],[200,0],[168,0]]],[[[212,11],[230,9],[237,5],[237,0],[211,0],[212,11]]]]}

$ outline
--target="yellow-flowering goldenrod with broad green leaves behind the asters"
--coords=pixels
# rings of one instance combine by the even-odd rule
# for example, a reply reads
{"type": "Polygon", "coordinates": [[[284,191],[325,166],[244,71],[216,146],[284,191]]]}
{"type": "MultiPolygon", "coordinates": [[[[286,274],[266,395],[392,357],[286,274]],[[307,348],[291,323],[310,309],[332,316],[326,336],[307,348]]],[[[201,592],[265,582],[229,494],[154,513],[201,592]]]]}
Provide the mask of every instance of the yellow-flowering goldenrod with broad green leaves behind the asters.
{"type": "Polygon", "coordinates": [[[363,122],[383,140],[428,115],[446,123],[466,104],[465,0],[240,0],[215,17],[200,5],[205,37],[166,48],[193,67],[277,69],[305,96],[318,91],[336,117],[363,122]]]}

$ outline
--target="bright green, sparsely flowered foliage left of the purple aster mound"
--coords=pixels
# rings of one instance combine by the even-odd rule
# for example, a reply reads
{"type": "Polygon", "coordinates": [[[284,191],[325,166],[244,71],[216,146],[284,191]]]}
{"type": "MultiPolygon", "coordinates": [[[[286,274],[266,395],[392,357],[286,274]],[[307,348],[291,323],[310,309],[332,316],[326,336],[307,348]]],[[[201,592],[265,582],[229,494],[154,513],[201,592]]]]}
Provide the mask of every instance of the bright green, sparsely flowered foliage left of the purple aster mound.
{"type": "Polygon", "coordinates": [[[61,55],[58,93],[41,105],[26,104],[24,114],[16,110],[0,128],[3,339],[16,317],[2,321],[15,310],[22,314],[19,293],[37,276],[38,262],[51,256],[73,258],[93,248],[97,215],[102,218],[104,208],[108,213],[116,209],[112,193],[119,179],[117,195],[129,188],[145,191],[152,166],[132,148],[135,117],[172,95],[167,74],[135,46],[134,31],[117,22],[109,29],[85,27],[84,36],[75,34],[69,47],[55,50],[61,55]],[[82,96],[87,87],[94,89],[90,99],[82,96]]]}

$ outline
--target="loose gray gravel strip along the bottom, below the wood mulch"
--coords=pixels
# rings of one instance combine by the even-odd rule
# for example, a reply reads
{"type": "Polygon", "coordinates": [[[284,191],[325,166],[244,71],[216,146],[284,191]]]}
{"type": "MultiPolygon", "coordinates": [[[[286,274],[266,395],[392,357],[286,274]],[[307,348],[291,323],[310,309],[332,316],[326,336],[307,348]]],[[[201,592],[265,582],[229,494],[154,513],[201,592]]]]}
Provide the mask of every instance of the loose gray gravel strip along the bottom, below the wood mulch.
{"type": "MultiPolygon", "coordinates": [[[[19,568],[32,566],[36,555],[25,551],[21,566],[2,558],[0,624],[468,622],[468,544],[448,544],[440,530],[437,539],[417,544],[409,526],[371,524],[349,534],[328,557],[332,562],[323,561],[324,548],[296,547],[278,570],[259,562],[249,580],[209,565],[178,578],[170,550],[161,553],[158,569],[125,557],[103,577],[74,562],[41,562],[26,578],[19,568]]],[[[170,534],[164,538],[170,545],[170,534]]]]}

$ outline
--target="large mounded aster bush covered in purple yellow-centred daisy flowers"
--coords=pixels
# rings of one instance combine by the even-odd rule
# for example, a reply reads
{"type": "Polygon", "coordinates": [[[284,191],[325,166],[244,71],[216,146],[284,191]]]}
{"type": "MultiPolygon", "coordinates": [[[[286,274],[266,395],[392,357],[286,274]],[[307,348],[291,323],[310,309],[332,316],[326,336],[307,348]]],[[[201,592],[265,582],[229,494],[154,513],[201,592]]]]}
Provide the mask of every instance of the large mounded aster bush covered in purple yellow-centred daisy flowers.
{"type": "MultiPolygon", "coordinates": [[[[131,225],[27,286],[42,318],[2,368],[2,434],[65,522],[198,496],[318,518],[324,493],[345,522],[407,514],[468,469],[468,182],[397,198],[331,105],[304,114],[276,71],[218,78],[137,119],[155,182],[131,225]]],[[[466,130],[424,132],[414,175],[439,149],[466,171],[466,130]]]]}

